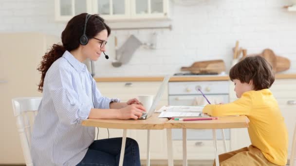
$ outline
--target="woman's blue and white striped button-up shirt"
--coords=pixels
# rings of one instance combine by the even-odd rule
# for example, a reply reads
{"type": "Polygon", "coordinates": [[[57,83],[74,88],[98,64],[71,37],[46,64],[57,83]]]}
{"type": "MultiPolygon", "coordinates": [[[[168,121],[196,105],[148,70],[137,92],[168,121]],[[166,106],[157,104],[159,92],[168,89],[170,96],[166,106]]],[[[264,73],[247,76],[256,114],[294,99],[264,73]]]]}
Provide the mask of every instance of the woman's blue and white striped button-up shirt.
{"type": "Polygon", "coordinates": [[[111,101],[119,102],[103,97],[87,67],[65,51],[44,79],[31,140],[34,165],[77,165],[95,135],[94,127],[81,126],[82,120],[88,118],[93,104],[95,108],[109,109],[111,101]]]}

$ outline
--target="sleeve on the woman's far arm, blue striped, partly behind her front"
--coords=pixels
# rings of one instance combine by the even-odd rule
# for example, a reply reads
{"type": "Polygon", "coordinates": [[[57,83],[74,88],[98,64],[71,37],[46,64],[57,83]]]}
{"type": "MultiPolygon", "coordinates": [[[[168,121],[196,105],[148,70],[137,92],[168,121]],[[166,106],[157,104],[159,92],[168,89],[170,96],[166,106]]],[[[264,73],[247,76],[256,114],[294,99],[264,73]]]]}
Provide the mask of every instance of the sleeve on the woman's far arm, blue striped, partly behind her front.
{"type": "Polygon", "coordinates": [[[116,98],[111,99],[111,98],[102,96],[101,92],[96,87],[96,81],[93,78],[92,78],[92,94],[93,94],[94,108],[110,109],[111,102],[120,102],[119,99],[116,99],[116,98]]]}

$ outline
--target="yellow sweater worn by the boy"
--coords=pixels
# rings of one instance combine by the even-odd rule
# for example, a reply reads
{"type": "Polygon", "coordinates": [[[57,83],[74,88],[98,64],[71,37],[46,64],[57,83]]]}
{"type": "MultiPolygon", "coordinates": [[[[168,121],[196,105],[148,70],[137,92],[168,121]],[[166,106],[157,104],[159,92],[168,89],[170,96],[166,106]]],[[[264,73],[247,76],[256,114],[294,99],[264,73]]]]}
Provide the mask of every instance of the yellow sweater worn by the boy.
{"type": "Polygon", "coordinates": [[[203,113],[211,116],[245,115],[250,119],[248,133],[253,146],[260,149],[266,159],[285,166],[288,153],[288,133],[277,100],[269,89],[248,91],[228,104],[208,104],[203,113]]]}

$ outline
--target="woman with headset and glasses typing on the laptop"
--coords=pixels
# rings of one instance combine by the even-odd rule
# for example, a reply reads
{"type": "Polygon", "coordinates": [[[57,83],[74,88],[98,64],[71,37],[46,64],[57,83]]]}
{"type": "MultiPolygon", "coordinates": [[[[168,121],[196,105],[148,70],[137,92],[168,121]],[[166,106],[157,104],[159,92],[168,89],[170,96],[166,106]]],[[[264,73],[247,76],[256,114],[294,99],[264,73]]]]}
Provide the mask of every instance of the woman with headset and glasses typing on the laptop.
{"type": "MultiPolygon", "coordinates": [[[[62,32],[62,45],[43,56],[38,67],[43,98],[31,145],[35,166],[118,166],[122,138],[94,141],[94,127],[81,125],[87,118],[137,119],[145,111],[136,99],[103,97],[82,63],[101,56],[110,33],[103,18],[80,14],[62,32]]],[[[138,144],[130,138],[123,165],[140,166],[138,144]]]]}

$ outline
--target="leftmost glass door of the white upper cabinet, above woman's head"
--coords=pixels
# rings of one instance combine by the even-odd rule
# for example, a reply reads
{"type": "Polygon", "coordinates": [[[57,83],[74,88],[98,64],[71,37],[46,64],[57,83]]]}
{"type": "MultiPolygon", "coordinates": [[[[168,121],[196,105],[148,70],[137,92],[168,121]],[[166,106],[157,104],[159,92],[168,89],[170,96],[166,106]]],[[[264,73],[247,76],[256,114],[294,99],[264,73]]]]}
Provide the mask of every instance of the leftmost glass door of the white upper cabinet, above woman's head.
{"type": "Polygon", "coordinates": [[[81,13],[92,13],[91,0],[55,0],[57,21],[69,21],[81,13]]]}

